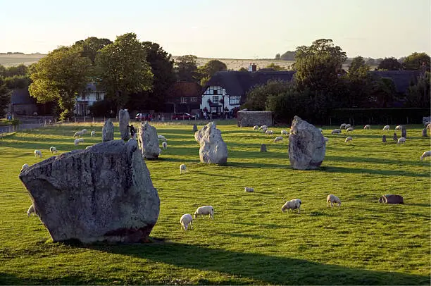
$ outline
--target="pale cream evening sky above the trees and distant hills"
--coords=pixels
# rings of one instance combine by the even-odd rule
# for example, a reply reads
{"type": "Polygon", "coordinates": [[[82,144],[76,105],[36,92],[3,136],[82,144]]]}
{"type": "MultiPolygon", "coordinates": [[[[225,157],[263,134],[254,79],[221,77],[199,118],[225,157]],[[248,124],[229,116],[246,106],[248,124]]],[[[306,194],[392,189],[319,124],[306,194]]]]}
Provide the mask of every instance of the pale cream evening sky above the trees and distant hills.
{"type": "Polygon", "coordinates": [[[431,55],[431,0],[0,0],[0,52],[135,32],[173,56],[274,58],[332,39],[347,56],[431,55]]]}

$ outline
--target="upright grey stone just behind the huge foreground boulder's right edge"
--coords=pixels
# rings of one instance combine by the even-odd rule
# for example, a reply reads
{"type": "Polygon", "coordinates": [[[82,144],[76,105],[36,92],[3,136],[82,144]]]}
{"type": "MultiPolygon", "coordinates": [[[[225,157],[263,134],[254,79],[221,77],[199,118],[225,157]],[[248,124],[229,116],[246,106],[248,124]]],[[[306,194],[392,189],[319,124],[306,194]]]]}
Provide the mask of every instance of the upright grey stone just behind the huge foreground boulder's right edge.
{"type": "Polygon", "coordinates": [[[148,121],[139,125],[137,128],[137,139],[139,149],[141,149],[142,156],[149,160],[158,158],[161,153],[160,147],[158,147],[157,130],[154,126],[149,125],[148,121]]]}

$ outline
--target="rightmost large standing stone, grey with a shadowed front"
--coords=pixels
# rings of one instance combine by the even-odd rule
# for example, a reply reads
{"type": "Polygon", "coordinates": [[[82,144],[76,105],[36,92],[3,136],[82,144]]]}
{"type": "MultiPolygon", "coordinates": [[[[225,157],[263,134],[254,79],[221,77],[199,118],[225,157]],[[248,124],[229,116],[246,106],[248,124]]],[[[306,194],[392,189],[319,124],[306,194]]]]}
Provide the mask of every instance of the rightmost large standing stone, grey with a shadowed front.
{"type": "Polygon", "coordinates": [[[322,132],[298,116],[294,117],[289,134],[289,161],[294,169],[314,170],[325,158],[322,132]]]}

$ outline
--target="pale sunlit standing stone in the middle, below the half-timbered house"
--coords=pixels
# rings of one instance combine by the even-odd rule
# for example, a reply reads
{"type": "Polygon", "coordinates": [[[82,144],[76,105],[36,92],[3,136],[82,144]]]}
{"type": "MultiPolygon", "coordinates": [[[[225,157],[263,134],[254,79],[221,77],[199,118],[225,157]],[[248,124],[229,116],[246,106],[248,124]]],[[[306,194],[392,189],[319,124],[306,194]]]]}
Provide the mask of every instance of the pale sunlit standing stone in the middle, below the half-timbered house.
{"type": "Polygon", "coordinates": [[[227,145],[214,122],[208,123],[195,132],[194,139],[201,145],[199,148],[201,163],[225,164],[227,162],[227,145]]]}

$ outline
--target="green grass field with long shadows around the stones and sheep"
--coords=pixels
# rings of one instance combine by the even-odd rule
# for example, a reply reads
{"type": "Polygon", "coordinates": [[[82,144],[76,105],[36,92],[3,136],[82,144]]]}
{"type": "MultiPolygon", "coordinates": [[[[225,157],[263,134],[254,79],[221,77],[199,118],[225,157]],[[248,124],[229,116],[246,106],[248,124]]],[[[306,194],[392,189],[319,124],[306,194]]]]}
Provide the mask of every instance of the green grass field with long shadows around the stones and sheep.
{"type": "MultiPolygon", "coordinates": [[[[430,285],[430,137],[408,126],[405,145],[382,126],[330,135],[320,170],[292,170],[288,140],[252,128],[218,125],[227,142],[227,166],[199,163],[191,125],[155,125],[168,139],[157,161],[146,161],[161,199],[158,222],[145,244],[54,243],[37,216],[27,217],[30,197],[18,179],[34,149],[48,158],[101,142],[101,125],[67,125],[20,132],[0,139],[0,284],[26,285],[430,285]],[[96,130],[75,147],[73,133],[96,130]],[[268,152],[260,153],[262,143],[268,152]],[[181,163],[188,172],[180,175],[181,163]],[[254,187],[254,193],[244,187],[254,187]],[[342,200],[328,208],[327,194],[342,200]],[[401,194],[406,204],[378,204],[382,194],[401,194]],[[301,213],[282,213],[289,199],[301,213]],[[211,204],[215,219],[180,216],[211,204]]],[[[202,125],[199,125],[201,128],[202,125]]],[[[320,126],[319,126],[320,127],[320,126]]],[[[118,126],[115,127],[118,138],[118,126]]],[[[358,127],[360,128],[360,127],[358,127]]],[[[399,132],[398,132],[399,135],[399,132]]]]}

